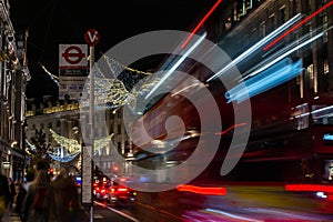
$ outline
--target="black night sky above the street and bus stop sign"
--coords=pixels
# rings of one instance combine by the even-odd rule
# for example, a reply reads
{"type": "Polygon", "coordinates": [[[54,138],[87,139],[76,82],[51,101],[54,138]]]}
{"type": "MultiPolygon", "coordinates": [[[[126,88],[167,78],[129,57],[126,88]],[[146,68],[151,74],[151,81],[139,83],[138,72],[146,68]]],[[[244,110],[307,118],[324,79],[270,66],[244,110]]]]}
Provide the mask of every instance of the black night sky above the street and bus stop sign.
{"type": "Polygon", "coordinates": [[[50,94],[58,88],[39,62],[58,75],[58,47],[85,43],[84,32],[97,29],[101,34],[95,51],[105,52],[114,44],[153,30],[190,31],[214,0],[10,0],[10,17],[16,30],[28,28],[28,67],[31,81],[28,98],[50,94]]]}

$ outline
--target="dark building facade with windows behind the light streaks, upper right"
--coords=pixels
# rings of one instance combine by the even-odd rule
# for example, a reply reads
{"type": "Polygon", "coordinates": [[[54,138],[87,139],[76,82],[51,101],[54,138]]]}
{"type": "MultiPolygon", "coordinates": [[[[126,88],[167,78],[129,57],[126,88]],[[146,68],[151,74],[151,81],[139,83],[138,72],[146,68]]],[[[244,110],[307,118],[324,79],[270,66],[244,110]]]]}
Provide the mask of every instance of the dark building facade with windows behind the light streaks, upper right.
{"type": "Polygon", "coordinates": [[[302,26],[281,39],[274,50],[306,34],[315,37],[323,32],[321,38],[295,52],[303,60],[304,71],[295,79],[290,100],[306,99],[333,90],[333,7],[329,0],[234,1],[219,14],[218,26],[212,27],[213,36],[219,37],[219,44],[234,58],[297,14],[302,17],[302,26]]]}

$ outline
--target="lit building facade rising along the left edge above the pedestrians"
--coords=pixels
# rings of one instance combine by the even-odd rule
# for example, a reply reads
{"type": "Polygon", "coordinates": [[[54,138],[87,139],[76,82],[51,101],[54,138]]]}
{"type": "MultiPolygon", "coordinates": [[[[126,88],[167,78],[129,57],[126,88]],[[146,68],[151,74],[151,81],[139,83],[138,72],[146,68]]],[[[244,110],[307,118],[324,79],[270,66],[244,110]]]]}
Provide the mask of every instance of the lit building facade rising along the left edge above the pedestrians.
{"type": "Polygon", "coordinates": [[[24,173],[28,31],[12,27],[8,0],[0,1],[0,171],[12,180],[24,173]]]}

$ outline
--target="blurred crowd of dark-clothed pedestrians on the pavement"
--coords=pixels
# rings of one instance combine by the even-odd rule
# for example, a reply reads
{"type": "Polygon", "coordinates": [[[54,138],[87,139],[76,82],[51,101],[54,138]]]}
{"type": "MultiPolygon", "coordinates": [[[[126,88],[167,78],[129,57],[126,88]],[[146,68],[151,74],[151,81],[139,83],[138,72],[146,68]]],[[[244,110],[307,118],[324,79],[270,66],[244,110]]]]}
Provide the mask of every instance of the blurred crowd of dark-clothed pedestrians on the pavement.
{"type": "Polygon", "coordinates": [[[51,176],[42,164],[27,173],[24,183],[0,174],[0,221],[9,213],[18,214],[22,222],[89,221],[75,180],[65,169],[51,176]]]}

